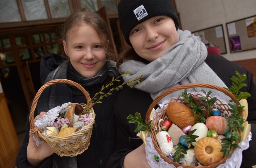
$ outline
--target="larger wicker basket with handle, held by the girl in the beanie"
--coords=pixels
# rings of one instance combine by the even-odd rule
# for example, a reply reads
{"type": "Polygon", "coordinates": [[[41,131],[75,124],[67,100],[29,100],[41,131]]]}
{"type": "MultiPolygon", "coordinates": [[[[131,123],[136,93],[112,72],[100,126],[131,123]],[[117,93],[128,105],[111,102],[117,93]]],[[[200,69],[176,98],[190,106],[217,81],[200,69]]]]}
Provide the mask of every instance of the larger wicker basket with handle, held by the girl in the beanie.
{"type": "MultiPolygon", "coordinates": [[[[155,98],[155,100],[152,102],[152,104],[150,105],[150,107],[148,108],[148,111],[146,113],[146,123],[148,123],[150,121],[150,113],[152,111],[152,109],[156,106],[156,104],[158,104],[158,102],[164,98],[165,96],[167,96],[168,94],[171,94],[172,92],[176,92],[178,90],[184,90],[184,89],[188,89],[188,88],[196,88],[196,87],[200,87],[200,88],[211,88],[211,89],[214,89],[214,90],[218,90],[220,92],[223,92],[224,94],[226,94],[227,96],[229,96],[232,100],[236,101],[236,97],[230,93],[228,90],[220,87],[220,86],[217,86],[217,85],[214,85],[214,84],[206,84],[206,83],[193,83],[193,84],[184,84],[184,85],[180,85],[180,86],[177,86],[177,87],[174,87],[174,88],[170,88],[169,90],[166,90],[165,92],[163,92],[162,94],[160,94],[158,97],[155,98]]],[[[182,98],[172,98],[170,100],[171,101],[178,101],[180,103],[184,103],[185,104],[185,101],[184,99],[182,98]]],[[[239,102],[237,102],[238,105],[240,105],[239,102]]],[[[167,104],[164,104],[165,105],[168,105],[167,104]]],[[[226,105],[226,104],[222,104],[222,102],[220,100],[217,99],[216,101],[216,105],[218,106],[218,109],[220,110],[220,112],[223,114],[225,114],[225,111],[227,113],[230,113],[228,111],[229,109],[229,106],[226,105]]],[[[154,117],[153,121],[151,122],[151,131],[152,131],[152,142],[154,144],[154,147],[156,149],[156,151],[160,154],[160,156],[164,159],[164,161],[166,161],[167,163],[169,164],[172,164],[176,167],[178,166],[183,166],[183,168],[195,168],[196,166],[191,166],[191,165],[184,165],[184,164],[179,164],[177,162],[173,162],[170,158],[166,157],[160,150],[159,146],[158,146],[158,143],[156,141],[156,134],[159,132],[159,126],[158,126],[158,123],[159,123],[159,120],[160,119],[164,119],[164,117],[166,117],[166,108],[162,108],[162,111],[158,111],[156,113],[156,117],[154,117]]],[[[242,116],[243,115],[243,112],[240,111],[240,115],[242,116]]],[[[225,117],[227,117],[225,115],[225,117]]],[[[240,131],[240,130],[239,130],[240,131]]],[[[232,152],[234,152],[236,148],[233,148],[232,149],[232,152]]],[[[226,156],[226,157],[223,157],[222,160],[220,160],[219,162],[216,162],[214,164],[211,164],[211,165],[208,165],[208,166],[202,166],[202,168],[215,168],[217,167],[219,164],[222,164],[226,161],[226,159],[228,159],[229,156],[226,156]]]]}

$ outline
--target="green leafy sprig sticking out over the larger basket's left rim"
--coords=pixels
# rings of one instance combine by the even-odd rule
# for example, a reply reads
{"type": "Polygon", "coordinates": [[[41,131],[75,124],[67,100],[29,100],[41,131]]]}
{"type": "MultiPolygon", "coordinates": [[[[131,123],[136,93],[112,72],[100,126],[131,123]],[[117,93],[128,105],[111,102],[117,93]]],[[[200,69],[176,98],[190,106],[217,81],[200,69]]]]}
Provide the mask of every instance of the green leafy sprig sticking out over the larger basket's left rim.
{"type": "Polygon", "coordinates": [[[128,115],[127,119],[129,120],[129,123],[135,124],[136,125],[136,129],[134,130],[135,133],[139,133],[140,131],[148,131],[149,133],[151,132],[151,122],[148,122],[147,124],[145,124],[143,122],[143,119],[140,115],[140,113],[135,113],[135,115],[128,115]]]}

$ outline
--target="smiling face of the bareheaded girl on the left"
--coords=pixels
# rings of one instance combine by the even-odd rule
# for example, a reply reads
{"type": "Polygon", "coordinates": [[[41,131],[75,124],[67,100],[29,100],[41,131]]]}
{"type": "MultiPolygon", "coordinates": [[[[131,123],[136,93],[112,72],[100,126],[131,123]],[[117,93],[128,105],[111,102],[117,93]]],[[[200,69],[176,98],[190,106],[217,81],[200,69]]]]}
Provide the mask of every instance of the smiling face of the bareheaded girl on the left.
{"type": "Polygon", "coordinates": [[[82,76],[92,78],[104,66],[104,42],[92,25],[82,23],[72,28],[67,33],[67,40],[62,42],[70,63],[82,76]]]}

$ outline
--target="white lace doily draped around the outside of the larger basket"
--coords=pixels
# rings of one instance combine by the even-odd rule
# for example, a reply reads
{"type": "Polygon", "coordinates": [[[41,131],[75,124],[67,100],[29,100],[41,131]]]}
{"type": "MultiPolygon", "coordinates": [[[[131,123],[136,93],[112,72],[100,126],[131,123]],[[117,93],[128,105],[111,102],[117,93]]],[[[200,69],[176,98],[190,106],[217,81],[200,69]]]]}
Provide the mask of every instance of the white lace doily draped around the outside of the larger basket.
{"type": "MultiPolygon", "coordinates": [[[[231,158],[228,158],[226,162],[223,164],[220,164],[217,168],[239,168],[242,163],[242,151],[246,150],[249,148],[249,142],[252,139],[252,133],[250,132],[246,141],[239,143],[239,146],[241,147],[236,148],[236,150],[233,152],[231,158]]],[[[148,160],[148,164],[150,165],[151,168],[176,168],[172,164],[168,164],[167,162],[164,161],[164,159],[158,154],[156,149],[154,148],[154,144],[151,139],[151,134],[146,138],[146,145],[145,145],[145,150],[146,150],[146,158],[148,160]],[[154,156],[159,157],[159,162],[156,162],[154,159],[154,156]]],[[[178,168],[183,168],[182,166],[178,166],[178,168]]]]}

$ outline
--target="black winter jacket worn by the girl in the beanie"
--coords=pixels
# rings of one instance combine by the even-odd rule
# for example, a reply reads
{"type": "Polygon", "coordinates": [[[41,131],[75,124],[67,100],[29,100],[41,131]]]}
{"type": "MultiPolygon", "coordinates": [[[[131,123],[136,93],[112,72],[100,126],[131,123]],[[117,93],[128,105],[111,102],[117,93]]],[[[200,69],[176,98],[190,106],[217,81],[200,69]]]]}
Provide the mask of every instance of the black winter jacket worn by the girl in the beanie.
{"type": "MultiPolygon", "coordinates": [[[[232,76],[236,76],[235,71],[238,70],[241,74],[245,73],[247,76],[247,87],[242,91],[250,92],[252,97],[248,98],[249,115],[248,121],[252,125],[252,140],[250,141],[250,148],[243,151],[243,162],[241,167],[256,165],[256,160],[252,156],[256,156],[256,83],[253,81],[252,73],[242,66],[228,61],[222,56],[208,55],[205,62],[216,72],[216,74],[230,87],[232,76]]],[[[202,81],[203,82],[203,81],[202,81]]],[[[135,125],[128,123],[127,116],[134,115],[138,112],[142,118],[145,119],[148,107],[152,103],[152,98],[149,93],[131,89],[130,87],[120,90],[118,99],[115,105],[116,118],[116,152],[111,156],[108,167],[122,168],[124,157],[133,149],[139,147],[143,142],[136,137],[135,125]]]]}

